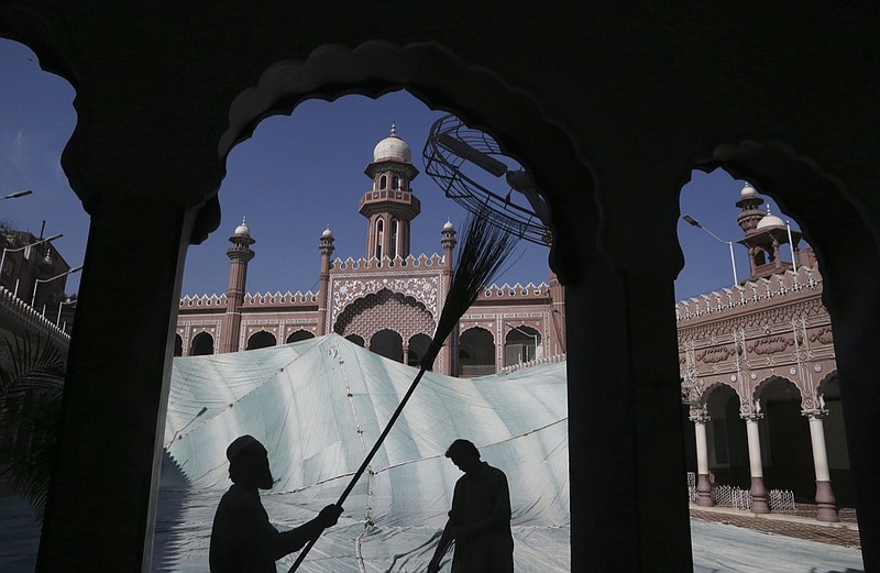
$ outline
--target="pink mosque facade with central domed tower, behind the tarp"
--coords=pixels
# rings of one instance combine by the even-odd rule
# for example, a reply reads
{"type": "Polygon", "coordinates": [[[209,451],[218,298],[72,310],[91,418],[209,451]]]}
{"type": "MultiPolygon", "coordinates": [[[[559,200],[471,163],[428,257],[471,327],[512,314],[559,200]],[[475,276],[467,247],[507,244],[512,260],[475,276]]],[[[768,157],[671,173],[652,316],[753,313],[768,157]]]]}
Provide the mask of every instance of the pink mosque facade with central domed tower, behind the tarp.
{"type": "MultiPolygon", "coordinates": [[[[227,291],[180,299],[175,355],[252,350],[336,332],[418,364],[449,291],[457,230],[451,222],[439,230],[439,253],[410,252],[411,224],[421,209],[410,188],[418,169],[394,126],[375,146],[365,174],[371,187],[359,203],[367,224],[364,257],[334,260],[327,229],[318,245],[317,291],[248,293],[255,240],[242,222],[229,239],[227,291]]],[[[563,289],[552,274],[539,285],[491,285],[461,318],[433,370],[470,377],[564,360],[564,315],[563,289]]]]}

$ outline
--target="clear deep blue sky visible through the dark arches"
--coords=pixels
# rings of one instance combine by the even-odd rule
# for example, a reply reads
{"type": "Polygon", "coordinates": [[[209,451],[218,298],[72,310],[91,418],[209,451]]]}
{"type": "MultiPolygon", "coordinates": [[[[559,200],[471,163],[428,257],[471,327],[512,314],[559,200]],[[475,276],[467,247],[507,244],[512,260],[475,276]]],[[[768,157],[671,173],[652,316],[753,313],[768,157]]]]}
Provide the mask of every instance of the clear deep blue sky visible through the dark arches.
{"type": "MultiPolygon", "coordinates": [[[[41,70],[30,49],[6,40],[0,40],[0,195],[34,190],[29,197],[0,201],[0,220],[34,234],[45,220],[45,234],[64,233],[55,246],[68,264],[79,265],[89,219],[59,163],[76,124],[74,90],[62,78],[41,70]]],[[[228,176],[220,188],[220,229],[204,244],[189,249],[183,293],[226,290],[228,238],[242,217],[256,240],[256,257],[248,273],[251,293],[314,289],[319,236],[327,225],[336,236],[334,256],[364,256],[366,220],[358,213],[358,202],[370,179],[363,170],[372,161],[373,147],[388,135],[392,122],[410,145],[413,163],[421,172],[413,185],[422,210],[413,222],[411,251],[440,251],[443,223],[449,219],[460,227],[465,217],[424,173],[425,140],[443,114],[398,91],[377,100],[361,96],[334,102],[310,100],[292,117],[263,121],[254,136],[239,144],[229,157],[228,176]]],[[[734,202],[741,188],[743,181],[724,172],[694,172],[682,189],[682,213],[692,214],[722,239],[736,240],[743,232],[736,224],[734,202]]],[[[730,285],[727,245],[683,221],[679,240],[686,264],[676,280],[676,298],[730,285]]],[[[734,246],[743,278],[748,275],[745,250],[734,246]]],[[[547,277],[547,249],[522,241],[498,282],[539,283],[547,277]]],[[[79,275],[70,275],[67,291],[75,293],[78,285],[79,275]]]]}

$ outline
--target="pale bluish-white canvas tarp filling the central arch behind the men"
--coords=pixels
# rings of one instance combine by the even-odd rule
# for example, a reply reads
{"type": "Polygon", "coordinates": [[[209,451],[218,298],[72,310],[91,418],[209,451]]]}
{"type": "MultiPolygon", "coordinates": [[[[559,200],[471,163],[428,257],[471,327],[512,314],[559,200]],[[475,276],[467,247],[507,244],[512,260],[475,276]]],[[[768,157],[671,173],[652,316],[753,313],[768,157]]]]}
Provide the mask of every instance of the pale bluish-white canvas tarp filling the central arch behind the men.
{"type": "MultiPolygon", "coordinates": [[[[337,500],[417,372],[336,334],[176,359],[154,570],[207,571],[233,439],[264,443],[277,483],[263,504],[293,528],[337,500]]],[[[427,373],[300,571],[425,571],[462,475],[443,456],[457,438],[507,474],[517,572],[569,571],[566,420],[564,364],[473,381],[427,373]]]]}

